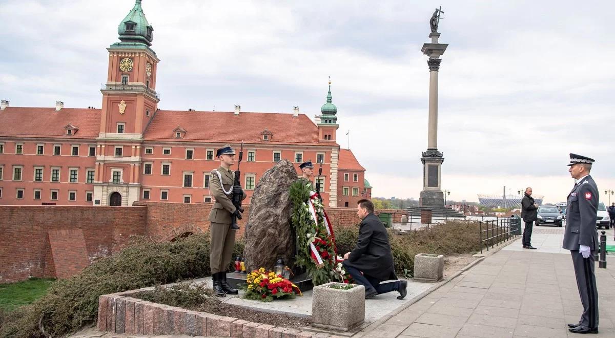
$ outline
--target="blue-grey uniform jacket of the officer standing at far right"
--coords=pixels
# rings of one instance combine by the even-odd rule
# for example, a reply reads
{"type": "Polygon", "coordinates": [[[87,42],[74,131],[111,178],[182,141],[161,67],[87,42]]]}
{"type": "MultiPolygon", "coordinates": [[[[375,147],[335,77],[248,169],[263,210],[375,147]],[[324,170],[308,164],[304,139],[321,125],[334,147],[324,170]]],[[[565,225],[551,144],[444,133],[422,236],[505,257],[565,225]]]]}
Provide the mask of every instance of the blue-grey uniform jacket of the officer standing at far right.
{"type": "Polygon", "coordinates": [[[574,186],[568,195],[566,209],[566,231],[562,248],[579,250],[579,245],[587,245],[598,250],[596,214],[598,211],[598,187],[592,176],[587,176],[574,186]]]}

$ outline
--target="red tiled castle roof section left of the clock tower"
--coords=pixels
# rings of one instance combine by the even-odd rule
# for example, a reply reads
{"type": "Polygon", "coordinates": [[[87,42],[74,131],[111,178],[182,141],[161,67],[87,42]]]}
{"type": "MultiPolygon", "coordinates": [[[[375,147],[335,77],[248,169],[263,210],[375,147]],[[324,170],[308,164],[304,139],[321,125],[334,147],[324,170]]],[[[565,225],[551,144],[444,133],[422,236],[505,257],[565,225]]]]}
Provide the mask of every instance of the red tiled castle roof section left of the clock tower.
{"type": "Polygon", "coordinates": [[[7,107],[0,111],[0,136],[97,138],[100,109],[7,107]],[[67,136],[65,127],[79,130],[67,136]]]}

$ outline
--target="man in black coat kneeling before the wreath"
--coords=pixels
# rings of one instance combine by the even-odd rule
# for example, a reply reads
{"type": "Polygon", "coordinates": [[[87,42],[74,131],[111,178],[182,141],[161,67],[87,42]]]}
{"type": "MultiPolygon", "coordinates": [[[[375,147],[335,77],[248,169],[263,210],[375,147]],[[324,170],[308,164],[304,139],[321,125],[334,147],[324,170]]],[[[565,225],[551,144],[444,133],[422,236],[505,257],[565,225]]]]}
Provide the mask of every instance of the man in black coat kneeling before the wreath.
{"type": "Polygon", "coordinates": [[[400,296],[397,299],[403,299],[407,294],[408,281],[381,284],[385,280],[396,280],[397,275],[389,235],[374,214],[373,203],[370,200],[360,200],[357,214],[362,219],[359,240],[351,252],[344,254],[344,269],[358,284],[365,286],[366,299],[391,291],[398,291],[400,296]]]}

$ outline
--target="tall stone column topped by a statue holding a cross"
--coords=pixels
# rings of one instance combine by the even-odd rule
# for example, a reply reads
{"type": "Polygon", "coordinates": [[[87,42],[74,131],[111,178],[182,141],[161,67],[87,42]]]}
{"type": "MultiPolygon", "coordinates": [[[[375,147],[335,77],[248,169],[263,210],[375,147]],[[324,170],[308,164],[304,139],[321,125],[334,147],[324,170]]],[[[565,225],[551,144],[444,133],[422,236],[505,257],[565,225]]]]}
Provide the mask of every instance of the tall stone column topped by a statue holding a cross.
{"type": "MultiPolygon", "coordinates": [[[[435,16],[435,14],[434,14],[435,16]]],[[[439,15],[438,15],[439,20],[439,15]]],[[[419,198],[419,205],[427,207],[444,206],[444,194],[440,185],[442,174],[442,152],[438,151],[438,69],[442,59],[440,56],[446,50],[448,44],[438,43],[440,33],[437,24],[432,25],[432,33],[429,34],[431,43],[423,44],[421,52],[429,56],[429,129],[427,134],[427,151],[423,152],[423,191],[419,198]]]]}

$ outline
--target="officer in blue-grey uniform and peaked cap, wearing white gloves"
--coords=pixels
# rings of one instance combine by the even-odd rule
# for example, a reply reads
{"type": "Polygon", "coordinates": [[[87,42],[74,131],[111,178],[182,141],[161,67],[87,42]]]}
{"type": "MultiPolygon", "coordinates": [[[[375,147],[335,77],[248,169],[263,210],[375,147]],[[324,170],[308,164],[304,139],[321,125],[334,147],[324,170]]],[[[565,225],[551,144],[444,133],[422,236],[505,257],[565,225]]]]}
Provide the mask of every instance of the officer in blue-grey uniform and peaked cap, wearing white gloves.
{"type": "Polygon", "coordinates": [[[593,162],[589,157],[570,154],[568,164],[568,171],[576,179],[576,184],[568,195],[562,247],[570,250],[573,257],[574,274],[583,304],[579,323],[568,324],[568,331],[574,333],[598,333],[598,289],[593,273],[593,254],[598,250],[598,187],[589,175],[593,162]]]}

